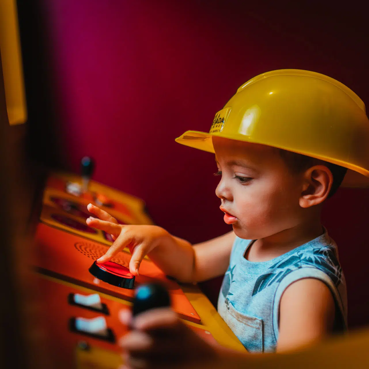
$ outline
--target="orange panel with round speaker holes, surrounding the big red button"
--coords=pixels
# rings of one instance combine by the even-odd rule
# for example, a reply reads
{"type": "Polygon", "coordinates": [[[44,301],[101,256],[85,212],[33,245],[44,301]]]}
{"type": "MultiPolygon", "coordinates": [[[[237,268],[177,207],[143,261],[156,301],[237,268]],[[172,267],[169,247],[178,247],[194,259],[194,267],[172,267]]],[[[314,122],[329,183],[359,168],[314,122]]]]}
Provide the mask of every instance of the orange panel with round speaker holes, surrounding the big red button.
{"type": "MultiPolygon", "coordinates": [[[[35,266],[45,274],[132,301],[133,290],[112,286],[95,278],[88,271],[93,261],[104,255],[107,249],[108,246],[39,223],[35,235],[35,266]]],[[[131,255],[120,252],[112,261],[128,267],[130,258],[131,255]]],[[[199,315],[180,286],[169,280],[154,263],[144,259],[135,286],[155,280],[163,283],[169,290],[173,310],[181,318],[200,323],[199,315]]]]}

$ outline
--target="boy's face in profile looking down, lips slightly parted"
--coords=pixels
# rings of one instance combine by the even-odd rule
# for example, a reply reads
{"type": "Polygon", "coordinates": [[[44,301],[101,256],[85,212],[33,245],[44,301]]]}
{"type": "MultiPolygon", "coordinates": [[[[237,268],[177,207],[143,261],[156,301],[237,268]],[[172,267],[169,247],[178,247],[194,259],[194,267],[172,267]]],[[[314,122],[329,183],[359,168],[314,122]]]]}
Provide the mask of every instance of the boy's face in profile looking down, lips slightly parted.
{"type": "Polygon", "coordinates": [[[290,172],[278,149],[220,137],[213,146],[221,172],[215,193],[238,237],[265,238],[301,222],[303,175],[290,172]]]}

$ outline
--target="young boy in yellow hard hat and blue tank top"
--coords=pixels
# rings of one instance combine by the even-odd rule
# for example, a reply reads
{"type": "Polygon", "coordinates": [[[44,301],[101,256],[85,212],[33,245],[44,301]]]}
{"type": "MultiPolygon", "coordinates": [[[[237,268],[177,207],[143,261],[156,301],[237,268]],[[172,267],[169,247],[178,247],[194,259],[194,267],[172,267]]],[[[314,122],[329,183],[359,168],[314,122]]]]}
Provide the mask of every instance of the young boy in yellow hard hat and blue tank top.
{"type": "MultiPolygon", "coordinates": [[[[119,225],[89,204],[100,219],[87,224],[116,238],[99,261],[128,246],[135,275],[145,255],[182,282],[225,273],[218,312],[249,352],[288,351],[344,331],[345,279],[320,213],[347,168],[369,176],[369,121],[359,97],[319,73],[276,70],[242,85],[209,133],[187,131],[176,141],[215,153],[216,195],[233,231],[191,245],[161,227],[119,225]]],[[[160,362],[158,353],[173,353],[176,344],[186,360],[193,351],[195,359],[220,352],[168,309],[132,324],[122,343],[131,367],[160,362]],[[155,334],[165,327],[170,348],[155,334]]]]}

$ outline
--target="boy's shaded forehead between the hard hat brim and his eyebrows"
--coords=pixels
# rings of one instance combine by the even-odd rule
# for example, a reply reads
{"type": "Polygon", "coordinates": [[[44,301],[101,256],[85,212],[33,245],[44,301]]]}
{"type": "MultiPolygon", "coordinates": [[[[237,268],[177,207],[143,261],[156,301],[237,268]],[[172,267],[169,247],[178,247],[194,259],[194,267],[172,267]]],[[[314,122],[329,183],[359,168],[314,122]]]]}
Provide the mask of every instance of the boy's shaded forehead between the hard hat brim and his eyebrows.
{"type": "Polygon", "coordinates": [[[278,149],[272,146],[237,141],[223,137],[213,137],[215,160],[239,158],[246,161],[263,161],[279,156],[278,149]]]}

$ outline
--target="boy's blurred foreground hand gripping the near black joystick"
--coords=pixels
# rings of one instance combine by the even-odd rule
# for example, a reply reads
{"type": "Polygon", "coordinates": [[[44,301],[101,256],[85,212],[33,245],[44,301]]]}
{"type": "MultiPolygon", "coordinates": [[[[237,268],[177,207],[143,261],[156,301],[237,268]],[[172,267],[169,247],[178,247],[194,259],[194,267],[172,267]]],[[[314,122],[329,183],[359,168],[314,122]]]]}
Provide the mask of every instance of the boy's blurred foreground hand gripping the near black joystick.
{"type": "Polygon", "coordinates": [[[173,368],[217,358],[215,346],[182,323],[170,308],[155,308],[134,318],[122,310],[119,318],[132,328],[120,339],[126,369],[173,368]]]}

